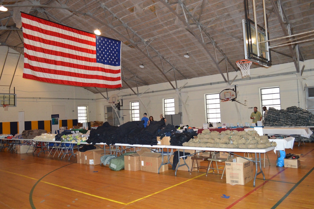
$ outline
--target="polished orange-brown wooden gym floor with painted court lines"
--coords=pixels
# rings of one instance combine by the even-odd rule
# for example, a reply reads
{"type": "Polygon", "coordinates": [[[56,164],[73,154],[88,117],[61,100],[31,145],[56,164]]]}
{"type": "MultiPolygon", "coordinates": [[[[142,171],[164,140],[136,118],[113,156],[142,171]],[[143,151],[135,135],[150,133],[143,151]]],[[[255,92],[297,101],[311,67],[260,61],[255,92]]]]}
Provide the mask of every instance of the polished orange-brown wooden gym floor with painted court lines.
{"type": "Polygon", "coordinates": [[[169,171],[112,171],[41,153],[0,152],[0,208],[313,208],[314,143],[286,153],[303,154],[300,168],[263,168],[245,185],[226,184],[225,175],[169,171]]]}

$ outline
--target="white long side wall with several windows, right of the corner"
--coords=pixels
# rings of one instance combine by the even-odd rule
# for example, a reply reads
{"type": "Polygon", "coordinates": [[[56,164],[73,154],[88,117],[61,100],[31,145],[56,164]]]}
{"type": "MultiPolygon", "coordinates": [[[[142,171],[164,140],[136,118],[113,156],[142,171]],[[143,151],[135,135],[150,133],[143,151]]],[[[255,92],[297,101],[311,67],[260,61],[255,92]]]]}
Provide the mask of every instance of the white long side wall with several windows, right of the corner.
{"type": "MultiPolygon", "coordinates": [[[[148,116],[152,115],[155,120],[160,120],[159,115],[163,111],[163,99],[174,97],[175,98],[175,109],[176,113],[182,112],[183,124],[187,124],[190,126],[201,127],[203,123],[206,121],[205,115],[205,102],[204,97],[205,94],[209,93],[219,93],[220,91],[227,88],[234,88],[234,85],[237,85],[238,97],[237,100],[247,106],[239,104],[237,102],[221,102],[221,118],[222,122],[226,123],[251,123],[250,115],[253,112],[252,108],[249,107],[258,107],[258,110],[261,111],[260,104],[260,88],[264,87],[273,87],[279,86],[280,88],[280,100],[281,100],[281,108],[285,109],[291,106],[297,106],[305,109],[305,94],[304,94],[304,86],[314,86],[314,71],[306,71],[308,69],[314,69],[314,60],[306,61],[305,69],[302,74],[302,77],[298,78],[295,70],[295,66],[293,63],[286,63],[281,65],[273,65],[269,68],[255,68],[251,69],[251,76],[264,76],[264,75],[272,75],[267,78],[259,78],[259,79],[251,79],[251,80],[242,80],[241,72],[231,72],[229,74],[230,80],[232,80],[236,75],[239,81],[234,81],[231,86],[228,86],[226,83],[223,84],[212,84],[211,82],[222,81],[223,78],[220,74],[212,75],[212,76],[204,76],[189,80],[180,80],[177,81],[178,88],[183,86],[186,87],[192,85],[200,85],[200,84],[208,84],[198,87],[190,87],[190,88],[182,88],[181,89],[181,98],[183,100],[183,104],[181,109],[179,107],[179,96],[175,90],[169,91],[160,91],[163,89],[172,89],[169,83],[157,84],[157,85],[149,85],[144,87],[139,87],[139,94],[143,93],[147,89],[147,92],[154,93],[144,93],[142,96],[134,96],[127,95],[128,93],[133,94],[133,92],[129,89],[123,89],[123,92],[119,91],[110,91],[108,94],[118,94],[119,98],[123,99],[122,109],[129,109],[129,102],[139,101],[140,102],[140,118],[143,117],[143,113],[146,112],[148,116]],[[291,74],[283,75],[285,73],[291,74]],[[281,74],[280,76],[275,76],[274,74],[281,74]],[[122,97],[121,97],[122,96],[122,97]]],[[[301,66],[302,68],[302,66],[301,66]]],[[[227,78],[227,76],[225,75],[227,78]]],[[[172,83],[175,85],[175,82],[172,83]]],[[[136,89],[134,89],[136,91],[136,89]]],[[[97,96],[100,98],[100,96],[97,96]]],[[[108,105],[107,102],[99,102],[101,108],[108,105]]],[[[124,115],[124,121],[122,123],[126,123],[130,121],[130,111],[123,110],[121,115],[124,115]]]]}

